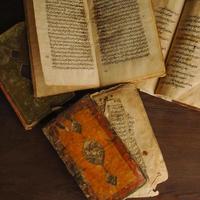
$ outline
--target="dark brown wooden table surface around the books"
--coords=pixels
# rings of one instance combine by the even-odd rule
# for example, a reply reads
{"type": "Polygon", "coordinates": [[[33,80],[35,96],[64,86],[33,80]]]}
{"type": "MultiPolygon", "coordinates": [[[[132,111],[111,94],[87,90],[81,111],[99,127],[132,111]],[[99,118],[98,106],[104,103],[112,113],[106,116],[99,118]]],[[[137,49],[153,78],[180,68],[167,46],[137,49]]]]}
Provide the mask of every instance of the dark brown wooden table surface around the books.
{"type": "MultiPolygon", "coordinates": [[[[0,1],[0,32],[23,20],[21,0],[0,1]]],[[[200,112],[142,94],[169,180],[152,200],[200,200],[200,112]]],[[[0,200],[85,200],[41,132],[25,132],[0,92],[0,200]]]]}

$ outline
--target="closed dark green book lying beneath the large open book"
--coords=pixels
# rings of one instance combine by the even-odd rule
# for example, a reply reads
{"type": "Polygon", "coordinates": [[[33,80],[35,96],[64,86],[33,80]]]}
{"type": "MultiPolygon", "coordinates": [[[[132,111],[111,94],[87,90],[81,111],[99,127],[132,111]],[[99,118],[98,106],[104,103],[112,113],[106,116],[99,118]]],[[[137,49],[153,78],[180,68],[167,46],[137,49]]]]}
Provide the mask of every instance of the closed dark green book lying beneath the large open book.
{"type": "Polygon", "coordinates": [[[35,98],[24,23],[0,35],[0,87],[26,129],[59,109],[73,94],[35,98]]]}

